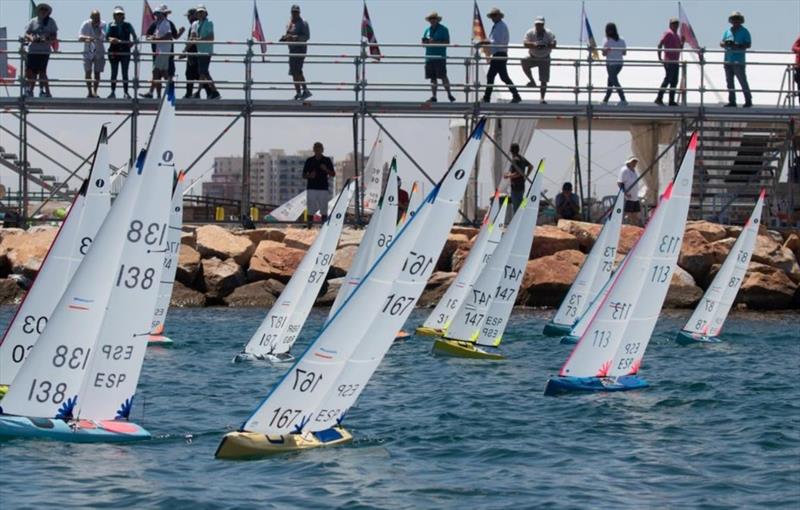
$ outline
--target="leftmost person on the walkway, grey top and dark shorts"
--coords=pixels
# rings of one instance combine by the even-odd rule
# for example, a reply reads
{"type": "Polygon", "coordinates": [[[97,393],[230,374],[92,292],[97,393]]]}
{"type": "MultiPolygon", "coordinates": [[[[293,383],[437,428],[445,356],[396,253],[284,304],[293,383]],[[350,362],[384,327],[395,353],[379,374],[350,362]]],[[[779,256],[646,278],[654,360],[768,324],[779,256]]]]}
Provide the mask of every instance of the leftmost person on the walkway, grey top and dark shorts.
{"type": "Polygon", "coordinates": [[[25,57],[25,95],[33,96],[36,80],[39,80],[39,97],[52,97],[47,80],[47,62],[50,60],[51,46],[58,40],[58,25],[50,17],[53,8],[49,4],[36,6],[36,17],[25,27],[25,42],[28,54],[25,57]]]}

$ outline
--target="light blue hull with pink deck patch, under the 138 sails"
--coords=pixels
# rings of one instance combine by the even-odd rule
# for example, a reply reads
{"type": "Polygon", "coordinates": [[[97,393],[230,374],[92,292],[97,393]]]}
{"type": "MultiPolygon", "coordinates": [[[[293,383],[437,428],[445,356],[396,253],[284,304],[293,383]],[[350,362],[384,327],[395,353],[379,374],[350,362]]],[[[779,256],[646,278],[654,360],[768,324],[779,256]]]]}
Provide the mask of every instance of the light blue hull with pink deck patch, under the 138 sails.
{"type": "Polygon", "coordinates": [[[79,420],[0,415],[0,437],[50,439],[68,443],[129,443],[150,439],[144,428],[128,421],[79,420]]]}

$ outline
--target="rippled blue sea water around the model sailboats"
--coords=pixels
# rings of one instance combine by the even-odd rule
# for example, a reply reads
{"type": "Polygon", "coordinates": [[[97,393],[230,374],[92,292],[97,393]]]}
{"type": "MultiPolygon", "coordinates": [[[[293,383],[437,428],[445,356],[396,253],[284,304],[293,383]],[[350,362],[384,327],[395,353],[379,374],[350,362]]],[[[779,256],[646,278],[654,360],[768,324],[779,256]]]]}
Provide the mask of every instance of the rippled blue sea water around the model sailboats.
{"type": "Polygon", "coordinates": [[[173,310],[175,346],[148,349],[132,413],[153,439],[0,442],[0,508],[800,507],[800,315],[734,313],[723,343],[680,347],[688,312],[669,312],[650,388],[558,398],[542,390],[572,347],[541,335],[551,315],[515,310],[502,362],[394,345],[346,416],[352,444],[220,461],[288,366],[231,363],[262,310],[173,310]]]}

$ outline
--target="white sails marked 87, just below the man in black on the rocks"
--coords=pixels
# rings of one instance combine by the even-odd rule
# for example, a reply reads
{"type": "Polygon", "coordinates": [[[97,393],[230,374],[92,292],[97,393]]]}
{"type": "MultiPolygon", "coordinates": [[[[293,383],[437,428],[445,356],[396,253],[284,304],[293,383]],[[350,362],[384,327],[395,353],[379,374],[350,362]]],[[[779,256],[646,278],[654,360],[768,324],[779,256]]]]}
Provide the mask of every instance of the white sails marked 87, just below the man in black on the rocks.
{"type": "Polygon", "coordinates": [[[354,188],[355,182],[350,182],[342,190],[331,215],[319,229],[317,238],[300,261],[289,283],[245,345],[246,354],[264,358],[291,349],[322,284],[325,283],[354,188]]]}

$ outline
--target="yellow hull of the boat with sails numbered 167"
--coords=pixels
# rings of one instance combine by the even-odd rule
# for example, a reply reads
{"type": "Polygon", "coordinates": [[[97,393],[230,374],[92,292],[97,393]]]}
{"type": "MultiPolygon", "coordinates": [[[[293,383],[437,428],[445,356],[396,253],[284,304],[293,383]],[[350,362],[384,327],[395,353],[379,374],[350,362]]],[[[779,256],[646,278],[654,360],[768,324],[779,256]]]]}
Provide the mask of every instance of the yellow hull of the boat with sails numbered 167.
{"type": "Polygon", "coordinates": [[[258,432],[229,432],[222,438],[214,457],[228,460],[258,459],[286,452],[336,446],[352,440],[352,434],[341,427],[313,434],[286,436],[268,436],[258,432]]]}

